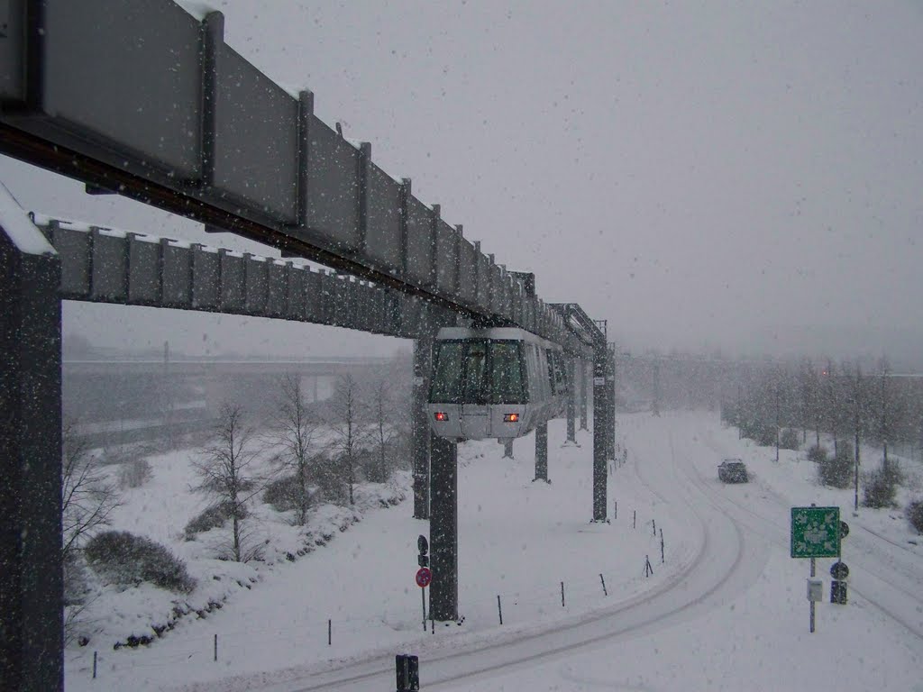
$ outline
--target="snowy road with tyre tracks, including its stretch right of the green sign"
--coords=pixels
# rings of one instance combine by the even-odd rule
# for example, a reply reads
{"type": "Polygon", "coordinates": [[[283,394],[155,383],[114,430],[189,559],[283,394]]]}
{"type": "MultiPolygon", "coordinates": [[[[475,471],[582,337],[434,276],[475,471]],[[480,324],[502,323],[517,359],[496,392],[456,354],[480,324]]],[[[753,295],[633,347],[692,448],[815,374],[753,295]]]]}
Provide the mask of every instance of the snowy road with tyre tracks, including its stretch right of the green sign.
{"type": "MultiPolygon", "coordinates": [[[[756,487],[756,493],[718,483],[712,460],[723,456],[723,450],[713,435],[700,435],[682,417],[665,416],[656,424],[662,426],[663,435],[642,435],[643,447],[632,447],[629,439],[633,463],[610,483],[618,483],[619,473],[634,473],[677,516],[695,526],[698,540],[686,568],[653,591],[538,633],[495,636],[449,651],[419,650],[424,689],[474,689],[478,681],[497,674],[515,673],[701,617],[747,591],[763,574],[771,549],[787,552],[790,505],[785,498],[759,479],[749,486],[756,487]]],[[[630,437],[630,429],[625,432],[630,437]]],[[[923,639],[919,557],[860,527],[849,541],[861,548],[850,558],[851,594],[900,623],[911,638],[923,639]]],[[[394,660],[388,656],[266,689],[378,692],[393,685],[394,660]]]]}

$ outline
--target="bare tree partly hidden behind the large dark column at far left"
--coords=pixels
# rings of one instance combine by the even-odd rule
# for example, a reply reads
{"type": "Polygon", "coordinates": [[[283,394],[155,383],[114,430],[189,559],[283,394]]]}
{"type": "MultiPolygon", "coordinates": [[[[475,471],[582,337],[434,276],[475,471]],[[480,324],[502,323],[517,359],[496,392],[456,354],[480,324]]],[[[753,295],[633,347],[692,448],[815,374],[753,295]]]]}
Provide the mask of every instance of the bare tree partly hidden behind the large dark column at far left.
{"type": "Polygon", "coordinates": [[[110,515],[121,503],[118,486],[109,480],[99,459],[90,455],[87,443],[78,438],[73,422],[64,425],[62,449],[61,550],[67,562],[88,533],[109,525],[110,515]]]}

